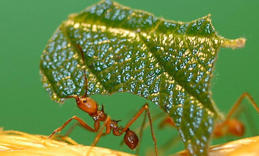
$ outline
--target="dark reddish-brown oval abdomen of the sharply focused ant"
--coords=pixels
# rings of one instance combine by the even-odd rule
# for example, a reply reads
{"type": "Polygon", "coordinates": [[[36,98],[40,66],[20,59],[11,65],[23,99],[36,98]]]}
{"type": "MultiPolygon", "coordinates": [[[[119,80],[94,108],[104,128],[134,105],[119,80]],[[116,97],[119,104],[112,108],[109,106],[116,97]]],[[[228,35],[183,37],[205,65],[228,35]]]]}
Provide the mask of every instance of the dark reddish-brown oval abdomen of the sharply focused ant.
{"type": "Polygon", "coordinates": [[[130,149],[135,149],[138,145],[138,136],[128,129],[124,135],[124,142],[130,149]]]}

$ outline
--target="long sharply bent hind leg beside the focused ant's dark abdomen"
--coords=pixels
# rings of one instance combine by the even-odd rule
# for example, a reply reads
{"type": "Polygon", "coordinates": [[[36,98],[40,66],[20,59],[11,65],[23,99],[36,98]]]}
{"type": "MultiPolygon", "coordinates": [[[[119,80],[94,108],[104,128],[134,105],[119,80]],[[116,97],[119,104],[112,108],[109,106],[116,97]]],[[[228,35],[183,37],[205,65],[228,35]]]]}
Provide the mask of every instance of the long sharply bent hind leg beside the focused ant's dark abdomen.
{"type": "Polygon", "coordinates": [[[126,124],[126,126],[121,130],[121,132],[114,133],[114,131],[113,131],[113,134],[119,136],[119,135],[122,135],[124,132],[128,131],[129,126],[131,126],[145,110],[146,110],[146,113],[147,113],[148,118],[149,118],[149,124],[150,124],[152,139],[153,139],[154,144],[155,144],[155,153],[157,155],[157,140],[155,138],[155,133],[154,133],[154,130],[153,130],[153,125],[152,125],[152,119],[151,119],[151,116],[150,116],[150,112],[149,112],[149,108],[148,108],[147,103],[144,104],[144,106],[138,111],[138,113],[135,116],[133,116],[133,118],[126,124]]]}

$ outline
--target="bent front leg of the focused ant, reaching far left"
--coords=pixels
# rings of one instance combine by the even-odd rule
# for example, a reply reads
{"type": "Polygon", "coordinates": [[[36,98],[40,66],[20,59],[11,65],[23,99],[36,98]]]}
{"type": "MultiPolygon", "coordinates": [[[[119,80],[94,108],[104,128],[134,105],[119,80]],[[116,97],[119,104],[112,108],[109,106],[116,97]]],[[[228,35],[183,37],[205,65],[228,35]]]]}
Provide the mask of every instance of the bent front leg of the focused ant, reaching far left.
{"type": "Polygon", "coordinates": [[[63,130],[63,128],[65,128],[65,126],[71,122],[73,119],[77,120],[79,122],[79,124],[84,127],[85,129],[87,130],[90,130],[92,132],[97,132],[99,130],[99,127],[100,127],[100,122],[99,121],[96,121],[94,123],[94,129],[92,127],[90,127],[88,124],[85,123],[85,121],[83,121],[81,118],[77,117],[77,116],[73,116],[72,118],[68,119],[62,126],[60,126],[59,128],[57,128],[56,130],[54,130],[54,132],[51,133],[51,135],[49,135],[47,137],[48,138],[51,138],[55,133],[57,132],[60,132],[61,130],[63,130]]]}

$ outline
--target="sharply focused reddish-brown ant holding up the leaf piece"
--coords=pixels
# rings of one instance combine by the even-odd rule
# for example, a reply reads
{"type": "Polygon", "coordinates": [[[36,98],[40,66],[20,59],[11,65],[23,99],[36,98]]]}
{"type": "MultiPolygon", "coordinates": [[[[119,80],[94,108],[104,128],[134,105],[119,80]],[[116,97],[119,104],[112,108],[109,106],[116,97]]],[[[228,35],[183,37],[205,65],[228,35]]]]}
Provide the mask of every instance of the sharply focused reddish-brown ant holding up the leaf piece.
{"type": "MultiPolygon", "coordinates": [[[[81,46],[79,44],[77,44],[77,47],[79,48],[81,54],[82,54],[82,59],[83,59],[83,63],[84,63],[84,68],[85,68],[85,57],[83,54],[83,51],[81,49],[81,46]]],[[[149,108],[148,108],[148,104],[144,104],[144,106],[136,113],[135,116],[133,116],[133,118],[126,124],[125,127],[122,126],[118,126],[118,122],[120,121],[116,121],[116,120],[111,120],[110,116],[107,116],[106,113],[104,113],[104,107],[102,105],[102,109],[98,110],[98,104],[95,100],[91,99],[88,95],[87,95],[87,90],[88,90],[88,81],[87,81],[87,77],[86,77],[86,72],[84,69],[84,77],[85,77],[85,95],[83,96],[79,96],[79,95],[72,95],[72,96],[67,96],[66,98],[75,98],[76,102],[77,102],[77,106],[83,110],[84,112],[88,113],[89,116],[93,117],[94,120],[94,128],[90,127],[87,123],[85,123],[85,121],[83,121],[81,118],[77,117],[77,116],[73,116],[70,119],[68,119],[62,126],[60,126],[59,128],[57,128],[56,130],[54,130],[54,132],[52,132],[51,135],[49,135],[47,137],[51,138],[55,133],[60,132],[61,130],[63,130],[63,128],[70,123],[73,119],[77,120],[80,124],[80,126],[84,127],[86,130],[89,130],[91,132],[98,132],[100,129],[100,122],[104,122],[103,127],[101,128],[101,130],[98,132],[98,134],[96,135],[96,138],[94,140],[94,142],[92,143],[91,146],[95,146],[95,144],[99,141],[99,138],[102,135],[106,135],[109,134],[111,131],[113,132],[113,135],[115,136],[120,136],[125,132],[124,135],[124,142],[125,144],[130,148],[130,149],[135,149],[138,145],[139,139],[138,136],[136,135],[135,132],[133,132],[132,130],[129,130],[129,127],[131,126],[131,124],[133,124],[136,119],[146,110],[145,113],[147,113],[148,118],[149,118],[149,124],[150,124],[150,128],[151,128],[151,134],[152,134],[152,138],[155,144],[155,153],[157,155],[157,142],[156,142],[156,138],[155,138],[155,134],[154,134],[154,130],[153,130],[153,126],[152,126],[152,120],[151,120],[151,116],[150,116],[150,112],[149,112],[149,108]],[[104,127],[106,127],[106,131],[104,134],[102,134],[102,130],[104,129],[104,127]]],[[[88,151],[89,152],[89,151],[88,151]]]]}

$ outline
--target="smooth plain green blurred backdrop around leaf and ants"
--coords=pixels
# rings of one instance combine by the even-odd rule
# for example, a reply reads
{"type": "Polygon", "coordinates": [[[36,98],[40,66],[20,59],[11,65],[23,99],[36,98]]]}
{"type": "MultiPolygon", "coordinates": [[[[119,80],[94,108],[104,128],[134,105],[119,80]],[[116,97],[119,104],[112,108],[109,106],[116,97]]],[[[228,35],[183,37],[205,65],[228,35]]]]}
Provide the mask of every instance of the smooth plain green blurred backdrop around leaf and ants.
{"type": "MultiPolygon", "coordinates": [[[[83,118],[90,125],[93,124],[92,119],[77,108],[74,99],[67,100],[63,105],[51,101],[40,81],[39,60],[47,41],[62,21],[67,19],[70,13],[80,12],[97,2],[1,0],[0,127],[4,127],[5,130],[49,135],[73,115],[83,118]]],[[[230,39],[247,38],[246,47],[243,49],[220,49],[211,84],[212,97],[223,114],[227,114],[238,97],[246,91],[259,103],[258,0],[152,0],[148,3],[144,0],[118,0],[118,2],[174,21],[192,21],[210,13],[212,24],[219,35],[230,39]]],[[[126,124],[147,102],[129,93],[92,97],[99,104],[105,104],[106,113],[113,119],[121,119],[121,125],[126,124]]],[[[149,103],[153,116],[160,113],[155,104],[149,103]]],[[[247,100],[244,100],[242,106],[238,116],[248,127],[244,137],[258,135],[259,123],[256,122],[258,114],[247,100]],[[249,127],[244,114],[250,123],[254,122],[252,126],[249,127]]],[[[154,121],[154,124],[157,142],[161,146],[168,141],[168,138],[177,136],[177,132],[171,127],[158,129],[159,121],[154,121]]],[[[141,119],[131,129],[140,124],[141,119]]],[[[77,127],[70,136],[79,143],[90,145],[95,135],[77,127]]],[[[107,135],[100,139],[98,146],[132,152],[125,145],[120,146],[122,138],[123,136],[107,135]]],[[[236,138],[227,136],[220,140],[213,139],[213,143],[223,143],[233,139],[236,138]]],[[[146,151],[153,148],[148,128],[144,132],[140,154],[145,155],[146,151]]],[[[182,143],[178,142],[171,146],[166,154],[182,149],[182,143]]]]}

